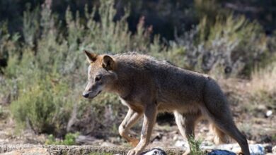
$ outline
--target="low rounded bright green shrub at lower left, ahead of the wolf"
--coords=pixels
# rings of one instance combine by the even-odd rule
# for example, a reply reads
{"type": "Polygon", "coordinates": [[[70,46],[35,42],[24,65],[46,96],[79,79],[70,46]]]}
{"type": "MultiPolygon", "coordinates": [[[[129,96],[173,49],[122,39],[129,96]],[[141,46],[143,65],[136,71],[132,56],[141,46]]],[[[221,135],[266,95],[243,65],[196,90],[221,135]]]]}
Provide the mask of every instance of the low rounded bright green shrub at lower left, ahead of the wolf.
{"type": "Polygon", "coordinates": [[[43,78],[21,89],[11,112],[18,123],[28,123],[37,133],[64,134],[74,103],[71,91],[65,82],[50,83],[50,77],[43,78]]]}

